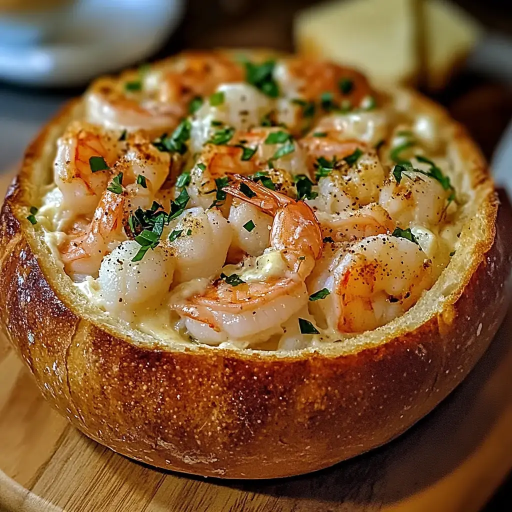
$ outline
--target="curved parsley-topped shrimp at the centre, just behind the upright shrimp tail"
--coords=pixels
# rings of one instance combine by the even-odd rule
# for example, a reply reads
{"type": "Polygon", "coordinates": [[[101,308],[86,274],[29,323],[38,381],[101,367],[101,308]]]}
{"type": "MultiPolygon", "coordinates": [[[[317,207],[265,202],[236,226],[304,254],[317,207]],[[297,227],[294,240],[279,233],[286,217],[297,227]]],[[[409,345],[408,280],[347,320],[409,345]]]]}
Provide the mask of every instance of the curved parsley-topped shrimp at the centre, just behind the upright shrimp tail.
{"type": "MultiPolygon", "coordinates": [[[[226,129],[224,129],[226,130],[226,129]]],[[[307,173],[305,156],[291,135],[279,127],[256,127],[248,132],[233,132],[229,144],[206,144],[190,171],[188,194],[193,205],[207,208],[217,189],[216,179],[233,174],[249,176],[267,170],[283,183],[284,175],[307,173]],[[278,153],[280,152],[280,153],[278,153]],[[281,156],[280,156],[281,154],[281,156]],[[277,155],[277,158],[273,158],[277,155]]],[[[291,179],[288,181],[292,181],[291,179]]]]}

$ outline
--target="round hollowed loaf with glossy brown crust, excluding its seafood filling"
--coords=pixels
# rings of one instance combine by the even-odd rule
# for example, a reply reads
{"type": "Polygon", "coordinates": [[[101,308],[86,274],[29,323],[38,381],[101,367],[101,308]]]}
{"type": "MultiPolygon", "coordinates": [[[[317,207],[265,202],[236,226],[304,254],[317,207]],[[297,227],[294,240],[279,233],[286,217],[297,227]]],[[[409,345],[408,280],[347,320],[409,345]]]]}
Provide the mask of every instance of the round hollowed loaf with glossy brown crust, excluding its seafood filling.
{"type": "MultiPolygon", "coordinates": [[[[412,91],[378,98],[401,113],[426,116],[444,137],[451,163],[443,170],[458,202],[455,253],[403,315],[371,331],[338,333],[339,341],[322,339],[327,331],[315,324],[321,334],[301,333],[291,348],[289,339],[281,346],[261,339],[215,346],[173,329],[168,336],[148,334],[141,323],[106,314],[104,304],[73,283],[47,242],[48,208],[41,207],[53,182],[57,139],[83,119],[87,98],[66,105],[28,148],[1,214],[0,322],[52,406],[92,439],[144,463],[204,476],[273,478],[386,443],[449,394],[504,315],[510,217],[497,215],[476,145],[439,106],[412,91]]],[[[390,150],[385,144],[379,151],[390,150]]]]}

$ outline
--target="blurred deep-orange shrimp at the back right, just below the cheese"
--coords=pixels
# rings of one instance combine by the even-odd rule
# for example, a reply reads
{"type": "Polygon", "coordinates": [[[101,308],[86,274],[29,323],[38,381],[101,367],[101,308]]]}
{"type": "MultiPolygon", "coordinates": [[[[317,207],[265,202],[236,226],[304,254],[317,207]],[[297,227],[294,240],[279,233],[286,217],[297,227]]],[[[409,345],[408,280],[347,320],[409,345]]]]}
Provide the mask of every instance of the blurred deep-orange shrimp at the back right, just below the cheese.
{"type": "Polygon", "coordinates": [[[365,106],[367,98],[375,97],[364,75],[332,62],[303,57],[283,59],[276,63],[273,76],[288,97],[314,101],[327,92],[336,103],[345,101],[354,108],[365,106]]]}

